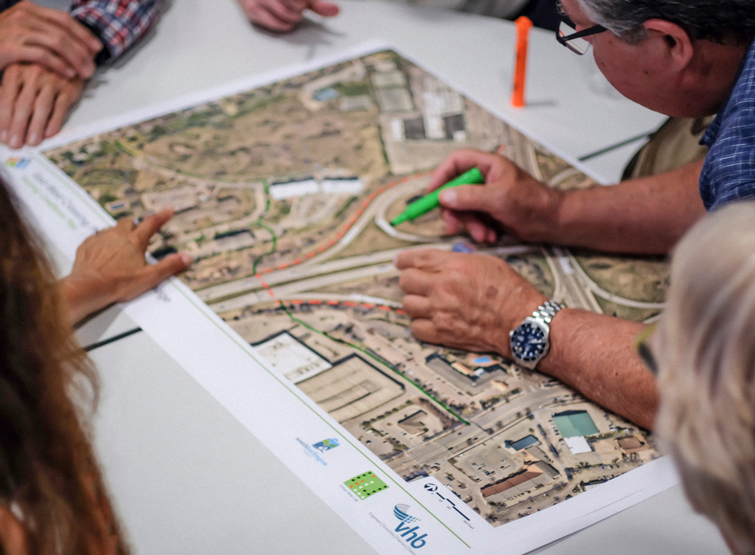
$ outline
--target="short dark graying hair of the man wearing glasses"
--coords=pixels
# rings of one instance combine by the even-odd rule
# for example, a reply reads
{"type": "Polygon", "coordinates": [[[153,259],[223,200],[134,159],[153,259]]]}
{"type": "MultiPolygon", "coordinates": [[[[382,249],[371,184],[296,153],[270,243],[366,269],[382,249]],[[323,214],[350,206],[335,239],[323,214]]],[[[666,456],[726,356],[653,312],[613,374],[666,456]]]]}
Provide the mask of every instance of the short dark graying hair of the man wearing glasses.
{"type": "Polygon", "coordinates": [[[755,36],[753,0],[578,0],[595,23],[630,43],[646,36],[649,19],[676,23],[693,39],[749,43],[755,36]]]}

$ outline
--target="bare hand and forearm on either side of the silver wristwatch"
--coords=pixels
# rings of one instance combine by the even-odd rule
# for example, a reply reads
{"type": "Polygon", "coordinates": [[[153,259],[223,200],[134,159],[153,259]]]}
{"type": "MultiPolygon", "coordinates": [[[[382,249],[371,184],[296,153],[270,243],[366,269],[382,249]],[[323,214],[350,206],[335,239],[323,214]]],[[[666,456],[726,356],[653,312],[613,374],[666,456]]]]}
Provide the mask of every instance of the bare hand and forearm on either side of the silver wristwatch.
{"type": "MultiPolygon", "coordinates": [[[[547,298],[502,260],[435,249],[394,262],[412,333],[429,343],[511,358],[509,332],[547,298]]],[[[566,308],[551,322],[538,369],[636,424],[653,426],[655,378],[634,351],[642,324],[566,308]]]]}

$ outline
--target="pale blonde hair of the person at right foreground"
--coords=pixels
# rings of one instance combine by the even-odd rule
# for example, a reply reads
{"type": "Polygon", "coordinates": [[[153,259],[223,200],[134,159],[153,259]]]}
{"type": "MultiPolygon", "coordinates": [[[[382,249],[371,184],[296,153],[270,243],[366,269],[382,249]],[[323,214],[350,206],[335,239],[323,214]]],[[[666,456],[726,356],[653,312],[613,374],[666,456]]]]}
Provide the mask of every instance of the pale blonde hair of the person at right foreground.
{"type": "Polygon", "coordinates": [[[658,435],[693,506],[755,555],[755,203],[679,243],[656,339],[658,435]]]}

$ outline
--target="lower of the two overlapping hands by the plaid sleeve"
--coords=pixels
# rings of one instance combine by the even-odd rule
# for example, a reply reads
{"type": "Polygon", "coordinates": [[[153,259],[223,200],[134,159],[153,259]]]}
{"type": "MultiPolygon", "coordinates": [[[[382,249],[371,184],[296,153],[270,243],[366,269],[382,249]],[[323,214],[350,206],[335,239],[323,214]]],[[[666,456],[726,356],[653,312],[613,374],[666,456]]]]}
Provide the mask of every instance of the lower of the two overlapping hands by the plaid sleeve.
{"type": "Polygon", "coordinates": [[[9,66],[0,83],[0,142],[21,148],[52,137],[83,89],[80,77],[62,77],[39,64],[9,66]]]}

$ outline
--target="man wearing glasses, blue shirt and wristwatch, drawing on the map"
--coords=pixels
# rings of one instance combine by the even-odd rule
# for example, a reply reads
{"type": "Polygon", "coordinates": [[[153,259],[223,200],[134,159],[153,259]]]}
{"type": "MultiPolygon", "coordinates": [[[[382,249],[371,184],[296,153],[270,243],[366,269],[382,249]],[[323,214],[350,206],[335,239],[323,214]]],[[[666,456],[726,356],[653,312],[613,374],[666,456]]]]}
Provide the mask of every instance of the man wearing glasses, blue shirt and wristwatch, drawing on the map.
{"type": "MultiPolygon", "coordinates": [[[[719,114],[703,137],[707,158],[613,187],[562,192],[503,157],[459,151],[430,187],[474,166],[486,185],[441,195],[448,233],[466,228],[491,242],[505,230],[531,242],[668,254],[706,210],[755,197],[753,0],[562,0],[561,8],[558,41],[577,54],[592,46],[598,67],[626,97],[669,116],[719,114]]],[[[655,380],[633,347],[642,324],[563,309],[492,257],[425,249],[395,263],[419,339],[499,352],[652,428],[655,380]]]]}

